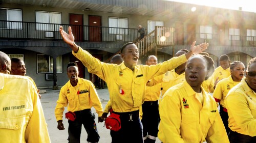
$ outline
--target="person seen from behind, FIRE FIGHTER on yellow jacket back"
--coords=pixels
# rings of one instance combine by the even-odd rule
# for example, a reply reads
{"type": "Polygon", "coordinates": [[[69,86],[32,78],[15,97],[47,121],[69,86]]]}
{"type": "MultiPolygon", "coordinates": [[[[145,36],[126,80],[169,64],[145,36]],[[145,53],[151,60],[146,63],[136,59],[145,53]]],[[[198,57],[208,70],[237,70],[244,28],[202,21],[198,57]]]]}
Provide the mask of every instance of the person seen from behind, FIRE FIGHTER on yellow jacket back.
{"type": "Polygon", "coordinates": [[[0,65],[0,142],[51,142],[33,83],[24,76],[8,75],[11,60],[1,51],[0,65]]]}

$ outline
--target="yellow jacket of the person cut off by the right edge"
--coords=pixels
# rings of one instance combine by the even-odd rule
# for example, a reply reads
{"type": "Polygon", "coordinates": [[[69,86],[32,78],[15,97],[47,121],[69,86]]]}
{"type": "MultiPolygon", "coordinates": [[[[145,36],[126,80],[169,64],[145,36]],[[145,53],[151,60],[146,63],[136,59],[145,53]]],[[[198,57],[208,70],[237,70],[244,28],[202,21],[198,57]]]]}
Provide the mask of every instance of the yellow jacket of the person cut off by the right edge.
{"type": "Polygon", "coordinates": [[[226,96],[228,127],[234,132],[256,136],[256,93],[245,80],[242,79],[226,96]]]}

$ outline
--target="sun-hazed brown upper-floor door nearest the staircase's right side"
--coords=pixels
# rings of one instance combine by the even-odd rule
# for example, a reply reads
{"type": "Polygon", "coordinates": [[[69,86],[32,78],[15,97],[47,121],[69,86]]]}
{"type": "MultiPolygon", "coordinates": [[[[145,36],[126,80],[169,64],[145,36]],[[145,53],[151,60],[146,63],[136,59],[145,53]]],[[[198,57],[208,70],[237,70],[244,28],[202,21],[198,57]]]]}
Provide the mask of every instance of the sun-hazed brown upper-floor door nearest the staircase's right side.
{"type": "Polygon", "coordinates": [[[184,43],[184,28],[182,22],[175,23],[175,44],[183,45],[184,43]]]}

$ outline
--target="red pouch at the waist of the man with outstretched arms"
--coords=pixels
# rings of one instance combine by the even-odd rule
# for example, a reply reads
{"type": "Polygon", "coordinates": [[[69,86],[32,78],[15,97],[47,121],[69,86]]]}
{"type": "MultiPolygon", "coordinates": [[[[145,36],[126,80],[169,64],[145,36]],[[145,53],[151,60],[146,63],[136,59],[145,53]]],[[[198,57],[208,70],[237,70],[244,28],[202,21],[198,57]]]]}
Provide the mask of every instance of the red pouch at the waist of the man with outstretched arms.
{"type": "Polygon", "coordinates": [[[111,115],[105,119],[105,125],[107,129],[118,131],[121,129],[121,121],[119,115],[111,113],[111,115]]]}

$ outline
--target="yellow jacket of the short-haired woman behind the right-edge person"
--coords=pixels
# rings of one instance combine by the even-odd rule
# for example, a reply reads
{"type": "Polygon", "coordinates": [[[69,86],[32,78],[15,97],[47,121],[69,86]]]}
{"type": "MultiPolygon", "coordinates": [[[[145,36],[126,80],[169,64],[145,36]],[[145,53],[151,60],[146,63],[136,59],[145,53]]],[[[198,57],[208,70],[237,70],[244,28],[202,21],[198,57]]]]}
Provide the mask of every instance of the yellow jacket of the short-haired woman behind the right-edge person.
{"type": "Polygon", "coordinates": [[[220,102],[222,107],[226,108],[225,98],[227,96],[227,93],[230,91],[230,89],[232,89],[238,83],[240,82],[233,81],[231,75],[228,78],[224,78],[221,81],[219,81],[216,85],[216,88],[213,94],[215,101],[220,102]]]}

